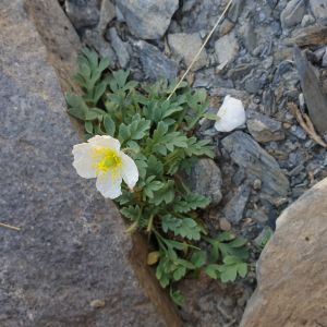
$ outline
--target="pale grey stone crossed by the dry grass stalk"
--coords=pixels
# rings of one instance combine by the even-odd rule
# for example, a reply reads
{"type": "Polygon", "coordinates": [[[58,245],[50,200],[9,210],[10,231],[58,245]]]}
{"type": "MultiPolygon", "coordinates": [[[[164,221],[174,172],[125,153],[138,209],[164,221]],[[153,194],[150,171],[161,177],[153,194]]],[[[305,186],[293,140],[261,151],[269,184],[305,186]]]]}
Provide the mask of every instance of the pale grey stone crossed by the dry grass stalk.
{"type": "MultiPolygon", "coordinates": [[[[189,68],[203,45],[198,33],[186,34],[177,33],[168,35],[168,44],[175,55],[183,56],[184,62],[189,68]]],[[[203,49],[192,66],[192,71],[202,69],[207,63],[207,53],[203,49]]]]}

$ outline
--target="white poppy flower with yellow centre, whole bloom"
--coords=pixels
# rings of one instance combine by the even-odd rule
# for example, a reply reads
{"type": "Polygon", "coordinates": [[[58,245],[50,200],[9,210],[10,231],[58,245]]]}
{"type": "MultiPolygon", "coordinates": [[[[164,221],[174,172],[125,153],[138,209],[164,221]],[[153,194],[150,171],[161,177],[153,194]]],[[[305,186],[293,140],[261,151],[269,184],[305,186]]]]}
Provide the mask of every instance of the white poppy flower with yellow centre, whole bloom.
{"type": "Polygon", "coordinates": [[[88,143],[74,145],[73,166],[85,178],[97,178],[96,186],[105,196],[116,198],[121,195],[122,179],[133,189],[138,180],[135,162],[120,150],[120,142],[111,136],[99,136],[88,143]]]}

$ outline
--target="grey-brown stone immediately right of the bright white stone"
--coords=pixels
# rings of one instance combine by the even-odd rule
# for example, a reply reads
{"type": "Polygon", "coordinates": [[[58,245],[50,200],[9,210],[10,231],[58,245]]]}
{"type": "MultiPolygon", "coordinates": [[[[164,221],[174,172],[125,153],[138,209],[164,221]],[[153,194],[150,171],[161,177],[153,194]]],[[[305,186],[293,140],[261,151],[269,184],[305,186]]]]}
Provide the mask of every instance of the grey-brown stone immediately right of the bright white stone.
{"type": "Polygon", "coordinates": [[[246,111],[246,125],[256,142],[280,141],[284,138],[281,122],[255,111],[246,111]]]}

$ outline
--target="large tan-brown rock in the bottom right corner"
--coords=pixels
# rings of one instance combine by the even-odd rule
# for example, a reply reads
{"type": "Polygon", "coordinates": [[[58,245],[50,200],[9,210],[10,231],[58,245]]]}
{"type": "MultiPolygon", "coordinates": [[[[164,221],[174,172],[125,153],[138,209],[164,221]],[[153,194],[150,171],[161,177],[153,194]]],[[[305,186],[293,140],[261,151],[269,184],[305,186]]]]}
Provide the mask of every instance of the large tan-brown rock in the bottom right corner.
{"type": "Polygon", "coordinates": [[[326,326],[326,196],[324,179],[277,219],[240,327],[326,326]]]}

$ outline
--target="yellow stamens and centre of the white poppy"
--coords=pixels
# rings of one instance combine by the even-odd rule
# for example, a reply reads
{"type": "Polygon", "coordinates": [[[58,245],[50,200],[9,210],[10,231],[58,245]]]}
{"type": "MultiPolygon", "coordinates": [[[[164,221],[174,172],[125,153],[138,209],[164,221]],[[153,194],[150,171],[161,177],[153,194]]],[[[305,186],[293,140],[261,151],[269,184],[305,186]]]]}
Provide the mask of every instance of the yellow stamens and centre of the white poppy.
{"type": "MultiPolygon", "coordinates": [[[[119,167],[121,166],[121,157],[110,148],[101,148],[101,149],[94,149],[94,154],[89,153],[89,156],[94,159],[100,160],[98,165],[92,165],[92,169],[97,169],[96,174],[101,171],[101,175],[108,179],[108,172],[111,172],[111,181],[112,184],[116,182],[116,178],[120,178],[119,167]]],[[[104,178],[100,178],[101,181],[104,178]]]]}

